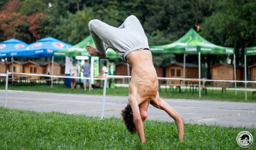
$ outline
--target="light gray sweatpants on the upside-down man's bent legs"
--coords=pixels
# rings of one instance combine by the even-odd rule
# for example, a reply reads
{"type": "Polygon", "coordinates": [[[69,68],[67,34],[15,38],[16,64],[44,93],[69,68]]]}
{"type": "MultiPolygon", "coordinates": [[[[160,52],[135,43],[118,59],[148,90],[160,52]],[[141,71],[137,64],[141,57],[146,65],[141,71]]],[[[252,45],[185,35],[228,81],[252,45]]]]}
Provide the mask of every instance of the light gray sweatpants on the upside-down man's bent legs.
{"type": "Polygon", "coordinates": [[[126,56],[138,49],[149,50],[147,36],[144,33],[140,21],[135,16],[129,16],[119,27],[112,27],[97,19],[89,22],[89,31],[93,37],[96,51],[104,55],[106,47],[111,47],[126,61],[126,56]]]}

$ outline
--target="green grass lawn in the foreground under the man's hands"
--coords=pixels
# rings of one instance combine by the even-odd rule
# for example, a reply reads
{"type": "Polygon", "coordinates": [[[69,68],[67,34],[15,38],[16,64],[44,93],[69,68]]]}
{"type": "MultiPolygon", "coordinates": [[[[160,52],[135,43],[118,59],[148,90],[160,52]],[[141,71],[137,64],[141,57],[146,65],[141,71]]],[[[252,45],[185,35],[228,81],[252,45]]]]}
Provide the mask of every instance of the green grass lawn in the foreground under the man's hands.
{"type": "MultiPolygon", "coordinates": [[[[121,118],[35,112],[0,107],[0,149],[243,149],[236,142],[240,131],[256,137],[256,129],[184,125],[178,141],[174,123],[145,121],[146,143],[129,134],[121,118]]],[[[255,141],[247,149],[256,149],[255,141]]]]}

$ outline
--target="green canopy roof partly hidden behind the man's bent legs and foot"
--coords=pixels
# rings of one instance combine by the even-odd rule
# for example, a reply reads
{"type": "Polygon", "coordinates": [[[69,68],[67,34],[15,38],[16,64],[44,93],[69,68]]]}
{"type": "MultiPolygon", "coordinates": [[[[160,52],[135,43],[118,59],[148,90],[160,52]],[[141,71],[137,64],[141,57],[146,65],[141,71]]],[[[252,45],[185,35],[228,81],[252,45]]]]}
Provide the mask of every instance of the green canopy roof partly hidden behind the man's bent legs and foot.
{"type": "MultiPolygon", "coordinates": [[[[93,38],[91,36],[88,36],[78,44],[75,44],[73,47],[67,48],[65,50],[53,52],[53,55],[54,56],[90,56],[89,52],[87,52],[86,50],[86,44],[90,44],[91,46],[95,47],[93,38]]],[[[108,58],[120,58],[120,56],[117,55],[112,48],[108,48],[106,54],[108,58]]]]}

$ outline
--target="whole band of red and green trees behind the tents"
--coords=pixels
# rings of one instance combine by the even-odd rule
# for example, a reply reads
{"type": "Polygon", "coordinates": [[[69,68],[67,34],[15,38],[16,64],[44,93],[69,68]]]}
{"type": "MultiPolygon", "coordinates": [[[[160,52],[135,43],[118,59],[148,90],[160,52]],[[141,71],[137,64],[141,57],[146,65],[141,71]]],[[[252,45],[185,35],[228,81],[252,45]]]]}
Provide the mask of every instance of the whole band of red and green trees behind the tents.
{"type": "MultiPolygon", "coordinates": [[[[255,8],[255,0],[1,0],[0,40],[15,37],[31,43],[52,36],[76,44],[89,35],[91,19],[118,27],[135,15],[150,45],[172,43],[194,28],[214,44],[235,47],[237,62],[243,64],[244,48],[256,45],[255,8]]],[[[207,66],[226,58],[201,56],[207,66]]],[[[173,60],[183,62],[183,55],[153,56],[157,65],[173,60]]],[[[186,62],[198,63],[198,56],[187,55],[186,62]]],[[[248,63],[253,62],[250,57],[248,63]]]]}

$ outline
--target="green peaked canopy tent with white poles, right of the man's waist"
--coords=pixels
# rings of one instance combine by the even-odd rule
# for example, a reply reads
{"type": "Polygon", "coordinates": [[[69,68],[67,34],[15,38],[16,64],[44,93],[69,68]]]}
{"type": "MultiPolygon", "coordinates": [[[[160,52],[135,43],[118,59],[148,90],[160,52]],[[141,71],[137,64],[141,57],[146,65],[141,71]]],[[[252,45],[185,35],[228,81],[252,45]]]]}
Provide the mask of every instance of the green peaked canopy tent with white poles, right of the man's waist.
{"type": "MultiPolygon", "coordinates": [[[[172,53],[172,54],[184,54],[184,65],[183,65],[183,78],[185,78],[185,54],[198,54],[198,62],[199,62],[199,83],[201,78],[201,54],[233,54],[234,55],[234,77],[236,80],[236,57],[234,54],[234,48],[230,47],[222,47],[215,45],[202,36],[200,36],[194,29],[190,29],[184,36],[182,36],[177,41],[163,45],[163,46],[150,46],[150,50],[152,53],[164,54],[164,53],[172,53]]],[[[236,82],[235,82],[236,87],[236,82]]],[[[199,89],[200,89],[199,84],[199,89]]],[[[237,93],[237,92],[236,92],[237,93]]],[[[199,97],[201,96],[201,92],[199,90],[199,97]]]]}

